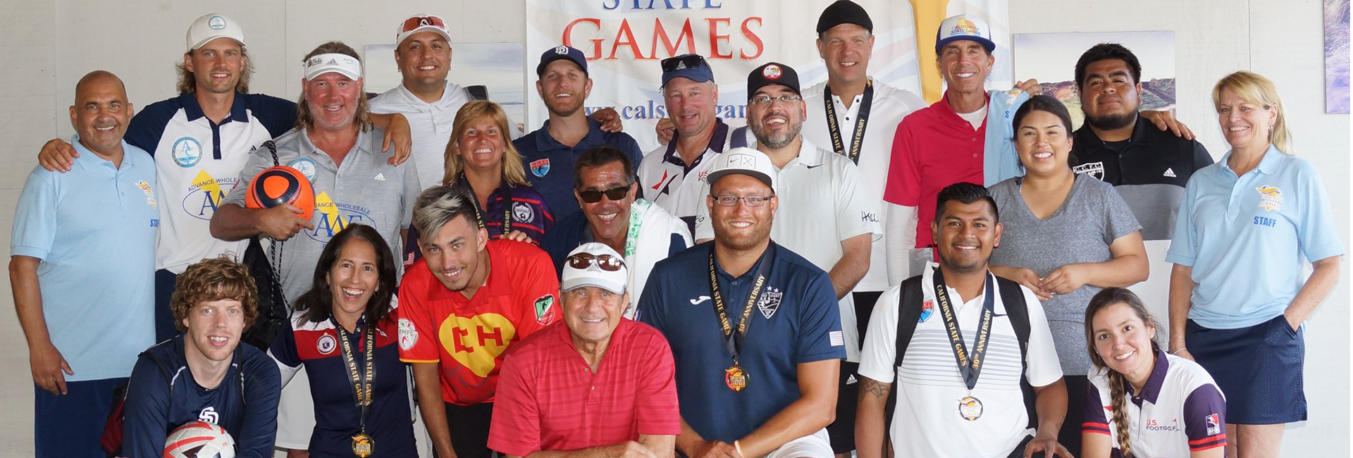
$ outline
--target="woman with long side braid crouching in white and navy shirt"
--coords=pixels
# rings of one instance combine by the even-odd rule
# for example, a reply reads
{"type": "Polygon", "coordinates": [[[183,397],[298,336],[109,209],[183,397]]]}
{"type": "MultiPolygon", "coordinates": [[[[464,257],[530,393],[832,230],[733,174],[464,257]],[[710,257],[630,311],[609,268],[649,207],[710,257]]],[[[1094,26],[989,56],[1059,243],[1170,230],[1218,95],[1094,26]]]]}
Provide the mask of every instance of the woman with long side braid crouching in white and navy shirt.
{"type": "Polygon", "coordinates": [[[1081,458],[1220,458],[1226,400],[1197,363],[1155,343],[1155,320],[1131,290],[1105,288],[1085,309],[1096,370],[1085,390],[1081,458]]]}

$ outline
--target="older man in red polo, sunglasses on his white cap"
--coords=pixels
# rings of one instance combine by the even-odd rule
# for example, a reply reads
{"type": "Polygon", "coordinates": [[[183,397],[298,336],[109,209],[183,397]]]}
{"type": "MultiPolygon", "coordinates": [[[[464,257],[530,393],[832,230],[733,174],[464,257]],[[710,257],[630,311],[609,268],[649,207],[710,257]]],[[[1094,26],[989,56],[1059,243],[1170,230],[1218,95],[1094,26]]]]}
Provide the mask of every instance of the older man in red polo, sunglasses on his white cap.
{"type": "Polygon", "coordinates": [[[503,363],[488,449],[667,458],[681,434],[676,366],[662,332],[622,316],[625,259],[584,243],[564,259],[566,326],[513,347],[503,363]]]}

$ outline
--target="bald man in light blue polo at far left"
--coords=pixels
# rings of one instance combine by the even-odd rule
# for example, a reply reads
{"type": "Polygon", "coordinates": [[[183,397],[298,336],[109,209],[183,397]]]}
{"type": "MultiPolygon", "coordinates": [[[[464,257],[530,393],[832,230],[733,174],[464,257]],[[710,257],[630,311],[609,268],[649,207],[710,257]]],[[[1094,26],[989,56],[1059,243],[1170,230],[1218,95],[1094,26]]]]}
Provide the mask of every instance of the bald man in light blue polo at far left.
{"type": "Polygon", "coordinates": [[[70,173],[35,168],[9,240],[14,304],[28,340],[37,457],[104,457],[112,390],[154,343],[156,165],[122,141],[131,119],[122,80],[76,85],[70,173]]]}

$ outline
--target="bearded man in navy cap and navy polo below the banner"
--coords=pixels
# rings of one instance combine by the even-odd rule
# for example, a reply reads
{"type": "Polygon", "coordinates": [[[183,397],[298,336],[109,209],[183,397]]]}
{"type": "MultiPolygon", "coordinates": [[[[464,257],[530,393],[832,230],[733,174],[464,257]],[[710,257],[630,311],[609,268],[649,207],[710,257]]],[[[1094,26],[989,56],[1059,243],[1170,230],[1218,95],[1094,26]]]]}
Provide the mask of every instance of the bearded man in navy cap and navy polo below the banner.
{"type": "Polygon", "coordinates": [[[612,146],[629,155],[636,170],[644,159],[639,143],[625,132],[605,132],[601,122],[587,118],[583,100],[591,93],[587,58],[568,46],[552,47],[536,65],[536,92],[549,109],[540,128],[513,141],[526,168],[526,180],[545,197],[561,220],[578,211],[574,200],[574,159],[594,146],[612,146]]]}

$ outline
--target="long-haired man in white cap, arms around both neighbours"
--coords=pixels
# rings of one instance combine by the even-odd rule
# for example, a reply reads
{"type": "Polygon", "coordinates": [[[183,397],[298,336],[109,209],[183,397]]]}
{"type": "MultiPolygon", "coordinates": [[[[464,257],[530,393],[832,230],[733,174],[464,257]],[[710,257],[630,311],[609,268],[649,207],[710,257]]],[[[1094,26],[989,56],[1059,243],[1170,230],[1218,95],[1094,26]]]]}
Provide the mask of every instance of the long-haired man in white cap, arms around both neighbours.
{"type": "MultiPolygon", "coordinates": [[[[238,22],[223,14],[206,14],[188,27],[185,46],[177,65],[179,96],[143,107],[127,124],[124,136],[154,158],[160,201],[175,203],[160,205],[156,342],[179,334],[169,313],[175,277],[204,258],[245,253],[244,240],[212,238],[208,222],[238,182],[249,151],[296,124],[296,103],[249,93],[253,61],[238,22]]],[[[388,128],[382,150],[394,141],[396,153],[403,151],[396,155],[407,157],[409,128],[403,118],[372,116],[372,123],[388,128]]],[[[70,143],[53,139],[42,147],[38,162],[47,170],[69,172],[77,155],[70,143]]],[[[271,342],[250,340],[248,335],[245,340],[262,346],[271,342]]]]}

